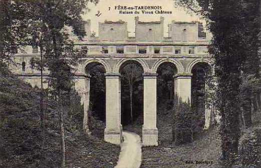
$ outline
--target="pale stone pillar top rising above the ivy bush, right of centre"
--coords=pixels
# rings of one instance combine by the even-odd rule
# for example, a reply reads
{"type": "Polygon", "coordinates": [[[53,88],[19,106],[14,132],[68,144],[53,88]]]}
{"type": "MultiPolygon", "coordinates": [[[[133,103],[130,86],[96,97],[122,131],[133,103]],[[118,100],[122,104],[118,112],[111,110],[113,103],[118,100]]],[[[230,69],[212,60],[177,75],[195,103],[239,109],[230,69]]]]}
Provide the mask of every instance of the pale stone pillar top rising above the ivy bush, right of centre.
{"type": "Polygon", "coordinates": [[[177,74],[174,76],[175,94],[182,99],[182,101],[191,102],[191,77],[192,74],[177,74]]]}

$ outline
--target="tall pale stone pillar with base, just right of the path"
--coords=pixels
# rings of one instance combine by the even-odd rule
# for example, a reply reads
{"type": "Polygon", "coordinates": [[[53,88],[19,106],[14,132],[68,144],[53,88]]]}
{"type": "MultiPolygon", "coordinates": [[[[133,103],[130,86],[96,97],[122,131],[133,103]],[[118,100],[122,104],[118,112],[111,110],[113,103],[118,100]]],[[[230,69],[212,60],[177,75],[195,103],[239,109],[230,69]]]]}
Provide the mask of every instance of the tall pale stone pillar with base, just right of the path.
{"type": "Polygon", "coordinates": [[[157,74],[144,73],[142,145],[158,146],[157,74]]]}

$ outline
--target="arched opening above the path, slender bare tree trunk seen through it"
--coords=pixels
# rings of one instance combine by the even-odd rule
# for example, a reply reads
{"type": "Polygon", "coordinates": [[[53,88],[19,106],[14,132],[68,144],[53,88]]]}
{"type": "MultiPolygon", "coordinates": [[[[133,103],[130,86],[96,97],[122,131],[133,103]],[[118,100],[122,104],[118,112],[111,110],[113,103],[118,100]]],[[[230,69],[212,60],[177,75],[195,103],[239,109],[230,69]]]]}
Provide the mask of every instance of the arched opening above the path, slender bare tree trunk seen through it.
{"type": "Polygon", "coordinates": [[[139,62],[129,60],[120,66],[119,72],[121,74],[121,124],[124,129],[141,134],[143,68],[139,62]]]}

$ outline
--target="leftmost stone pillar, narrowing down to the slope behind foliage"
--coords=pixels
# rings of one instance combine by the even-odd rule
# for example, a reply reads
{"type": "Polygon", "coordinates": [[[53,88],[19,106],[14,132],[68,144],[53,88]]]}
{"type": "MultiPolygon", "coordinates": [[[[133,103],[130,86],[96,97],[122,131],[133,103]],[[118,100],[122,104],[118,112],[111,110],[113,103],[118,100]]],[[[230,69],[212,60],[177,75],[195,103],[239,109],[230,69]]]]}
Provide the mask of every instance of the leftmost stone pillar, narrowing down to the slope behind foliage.
{"type": "Polygon", "coordinates": [[[90,103],[90,77],[81,75],[75,76],[76,83],[75,89],[81,97],[81,104],[84,106],[84,117],[83,117],[83,130],[89,133],[88,127],[88,111],[90,103]]]}

